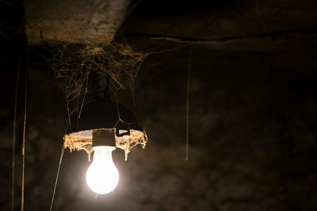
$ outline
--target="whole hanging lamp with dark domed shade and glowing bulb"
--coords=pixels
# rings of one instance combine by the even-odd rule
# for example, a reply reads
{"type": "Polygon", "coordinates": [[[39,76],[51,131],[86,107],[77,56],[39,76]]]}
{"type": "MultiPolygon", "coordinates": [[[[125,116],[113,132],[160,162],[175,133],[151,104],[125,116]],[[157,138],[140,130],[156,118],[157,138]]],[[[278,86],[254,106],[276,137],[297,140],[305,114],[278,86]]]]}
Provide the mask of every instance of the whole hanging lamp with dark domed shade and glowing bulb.
{"type": "MultiPolygon", "coordinates": [[[[109,100],[109,76],[104,91],[99,91],[99,79],[94,80],[93,102],[83,105],[80,118],[75,115],[64,137],[65,148],[94,151],[94,160],[87,170],[86,181],[91,190],[98,194],[111,192],[119,182],[119,172],[112,160],[112,151],[119,147],[125,150],[141,144],[144,148],[147,137],[142,127],[128,109],[109,100]],[[99,96],[104,92],[103,98],[99,96]]],[[[89,157],[90,158],[90,157],[89,157]]]]}

